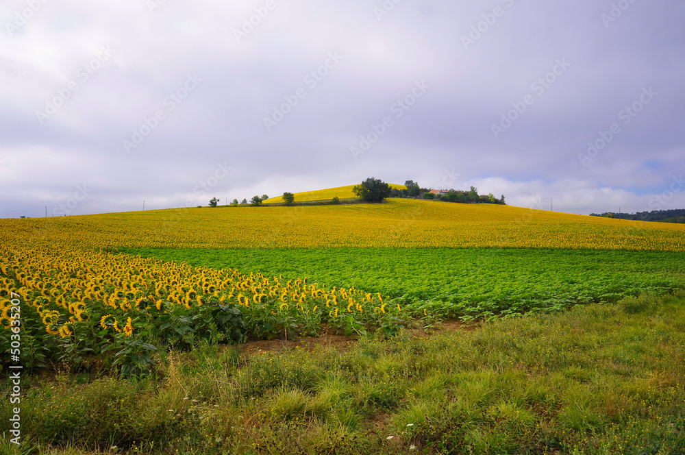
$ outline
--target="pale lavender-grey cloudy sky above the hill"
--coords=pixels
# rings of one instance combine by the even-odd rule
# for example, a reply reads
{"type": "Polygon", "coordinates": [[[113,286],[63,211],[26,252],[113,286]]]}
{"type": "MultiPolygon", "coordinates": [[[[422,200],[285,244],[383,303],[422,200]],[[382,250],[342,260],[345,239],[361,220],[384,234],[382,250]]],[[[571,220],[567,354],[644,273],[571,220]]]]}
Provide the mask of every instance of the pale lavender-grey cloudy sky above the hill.
{"type": "Polygon", "coordinates": [[[375,176],[685,208],[685,2],[3,0],[0,217],[375,176]]]}

